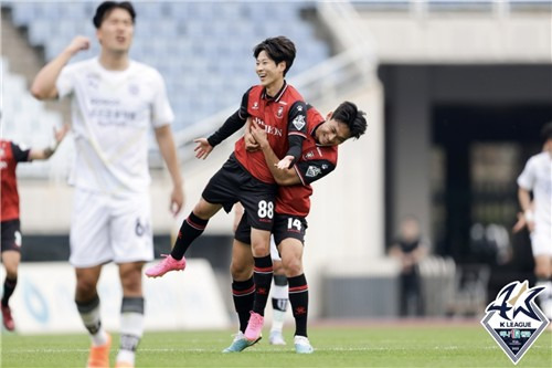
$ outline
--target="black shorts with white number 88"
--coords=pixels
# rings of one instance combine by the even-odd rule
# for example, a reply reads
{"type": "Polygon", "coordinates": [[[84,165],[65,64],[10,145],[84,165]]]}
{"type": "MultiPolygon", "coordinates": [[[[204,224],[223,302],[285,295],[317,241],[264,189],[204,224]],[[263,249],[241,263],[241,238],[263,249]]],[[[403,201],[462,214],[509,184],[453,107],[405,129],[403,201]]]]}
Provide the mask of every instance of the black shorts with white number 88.
{"type": "Polygon", "coordinates": [[[222,204],[226,212],[241,202],[252,228],[272,231],[277,190],[276,185],[254,178],[232,154],[201,196],[210,203],[222,204]]]}

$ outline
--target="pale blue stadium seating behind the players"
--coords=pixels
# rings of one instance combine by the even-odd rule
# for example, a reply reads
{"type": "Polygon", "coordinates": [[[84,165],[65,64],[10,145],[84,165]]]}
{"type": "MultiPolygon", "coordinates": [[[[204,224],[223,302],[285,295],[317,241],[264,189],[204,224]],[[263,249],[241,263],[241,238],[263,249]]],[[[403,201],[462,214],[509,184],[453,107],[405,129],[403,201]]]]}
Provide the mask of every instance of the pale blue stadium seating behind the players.
{"type": "MultiPolygon", "coordinates": [[[[46,61],[76,34],[95,39],[92,14],[97,2],[8,1],[12,19],[26,28],[30,44],[43,46],[46,61]]],[[[289,76],[330,56],[315,36],[315,25],[301,19],[309,1],[268,2],[136,2],[135,41],[130,55],[164,76],[177,120],[174,129],[198,123],[221,109],[237,108],[242,93],[257,83],[253,46],[285,34],[298,53],[289,76]]],[[[72,62],[97,54],[92,50],[72,62]]]]}

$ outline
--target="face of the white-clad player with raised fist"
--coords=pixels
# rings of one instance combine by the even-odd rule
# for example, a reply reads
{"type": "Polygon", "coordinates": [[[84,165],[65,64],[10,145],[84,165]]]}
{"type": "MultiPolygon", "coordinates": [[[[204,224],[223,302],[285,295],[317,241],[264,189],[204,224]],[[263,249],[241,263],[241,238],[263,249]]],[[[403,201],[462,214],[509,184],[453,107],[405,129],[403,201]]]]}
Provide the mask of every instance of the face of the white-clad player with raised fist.
{"type": "Polygon", "coordinates": [[[115,52],[128,52],[132,43],[132,18],[125,9],[113,9],[96,31],[102,48],[115,52]]]}

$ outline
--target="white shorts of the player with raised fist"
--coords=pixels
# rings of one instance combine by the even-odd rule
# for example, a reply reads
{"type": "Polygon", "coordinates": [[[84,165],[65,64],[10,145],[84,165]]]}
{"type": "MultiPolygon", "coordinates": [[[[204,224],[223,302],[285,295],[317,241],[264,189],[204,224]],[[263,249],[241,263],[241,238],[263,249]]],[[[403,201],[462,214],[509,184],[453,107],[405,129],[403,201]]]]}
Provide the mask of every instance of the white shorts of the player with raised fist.
{"type": "Polygon", "coordinates": [[[92,267],[114,261],[153,260],[151,210],[147,193],[125,198],[75,190],[70,263],[92,267]]]}

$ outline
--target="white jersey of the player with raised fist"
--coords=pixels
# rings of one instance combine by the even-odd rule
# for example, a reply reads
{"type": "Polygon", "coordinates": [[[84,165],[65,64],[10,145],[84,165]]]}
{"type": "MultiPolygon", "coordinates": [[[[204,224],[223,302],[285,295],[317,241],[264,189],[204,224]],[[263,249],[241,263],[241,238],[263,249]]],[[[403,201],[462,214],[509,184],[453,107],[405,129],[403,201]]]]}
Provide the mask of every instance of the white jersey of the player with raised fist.
{"type": "Polygon", "coordinates": [[[135,61],[115,72],[89,59],[66,65],[56,87],[60,98],[72,96],[76,157],[70,182],[110,194],[146,192],[150,126],[174,119],[162,76],[135,61]]]}

